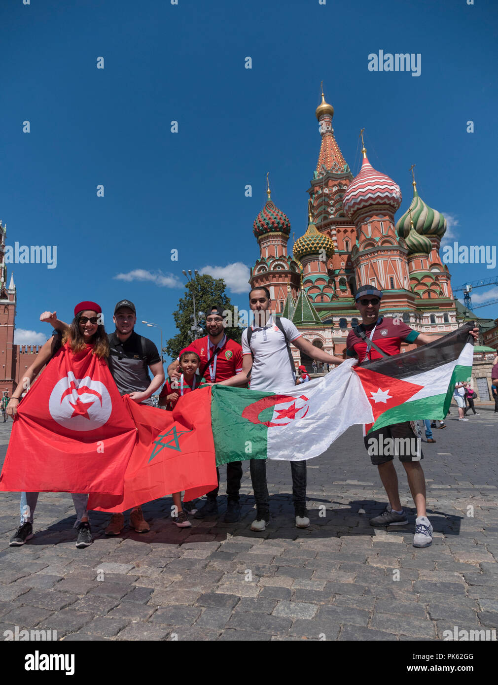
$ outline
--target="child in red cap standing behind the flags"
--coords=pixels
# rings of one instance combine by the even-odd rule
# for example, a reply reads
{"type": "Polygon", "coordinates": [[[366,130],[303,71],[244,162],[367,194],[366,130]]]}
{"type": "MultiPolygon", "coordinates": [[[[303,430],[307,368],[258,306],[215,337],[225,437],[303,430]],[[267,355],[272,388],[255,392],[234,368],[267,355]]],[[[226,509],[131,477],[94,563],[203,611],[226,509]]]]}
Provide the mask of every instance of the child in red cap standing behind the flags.
{"type": "MultiPolygon", "coordinates": [[[[186,347],[179,353],[179,366],[182,375],[179,381],[173,379],[173,384],[169,381],[164,383],[164,386],[159,395],[159,406],[166,407],[167,410],[172,411],[175,404],[180,397],[191,393],[196,388],[206,386],[206,381],[197,375],[195,372],[199,369],[201,358],[195,349],[186,347]]],[[[173,523],[179,528],[188,528],[192,525],[188,520],[188,516],[182,508],[182,493],[173,493],[173,504],[176,509],[176,516],[173,516],[173,523]]]]}

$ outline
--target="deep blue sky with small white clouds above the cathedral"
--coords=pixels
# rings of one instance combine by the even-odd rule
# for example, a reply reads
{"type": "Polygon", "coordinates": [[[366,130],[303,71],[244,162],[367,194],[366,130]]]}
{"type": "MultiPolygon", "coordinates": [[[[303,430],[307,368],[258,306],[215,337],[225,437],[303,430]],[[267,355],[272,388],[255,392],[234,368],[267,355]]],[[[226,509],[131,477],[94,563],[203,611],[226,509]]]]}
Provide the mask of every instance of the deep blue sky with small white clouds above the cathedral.
{"type": "MultiPolygon", "coordinates": [[[[45,338],[45,309],[69,320],[93,299],[110,319],[123,297],[169,338],[182,269],[227,275],[245,308],[266,171],[296,238],[306,230],[321,79],[353,173],[364,127],[371,164],[401,187],[397,217],[416,164],[419,194],[455,240],[497,242],[493,1],[10,0],[0,19],[0,218],[8,245],[57,246],[55,269],[8,266],[18,342],[45,338]],[[421,75],[369,71],[380,49],[420,54],[421,75]]],[[[449,268],[453,286],[498,276],[484,264],[449,268]]],[[[474,301],[493,297],[498,285],[474,301]]],[[[496,317],[498,305],[476,313],[496,317]]]]}

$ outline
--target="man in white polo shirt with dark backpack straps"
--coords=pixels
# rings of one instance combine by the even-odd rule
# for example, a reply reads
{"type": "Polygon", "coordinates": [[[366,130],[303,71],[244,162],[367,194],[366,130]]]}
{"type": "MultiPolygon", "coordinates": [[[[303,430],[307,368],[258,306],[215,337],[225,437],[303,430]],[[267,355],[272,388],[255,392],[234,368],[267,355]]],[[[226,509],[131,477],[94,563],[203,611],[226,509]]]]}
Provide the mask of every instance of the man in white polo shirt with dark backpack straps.
{"type": "MultiPolygon", "coordinates": [[[[270,310],[270,293],[266,288],[253,288],[249,292],[249,306],[254,312],[254,325],[242,333],[242,371],[221,385],[240,385],[247,382],[250,374],[251,390],[290,390],[295,386],[296,369],[289,343],[312,359],[342,364],[342,358],[329,355],[302,338],[292,321],[282,317],[274,321],[270,310]]],[[[298,528],[307,528],[310,519],[306,516],[306,460],[290,462],[290,471],[296,525],[298,528]]],[[[251,459],[251,479],[256,499],[256,519],[251,530],[262,531],[270,523],[266,460],[251,459]]]]}

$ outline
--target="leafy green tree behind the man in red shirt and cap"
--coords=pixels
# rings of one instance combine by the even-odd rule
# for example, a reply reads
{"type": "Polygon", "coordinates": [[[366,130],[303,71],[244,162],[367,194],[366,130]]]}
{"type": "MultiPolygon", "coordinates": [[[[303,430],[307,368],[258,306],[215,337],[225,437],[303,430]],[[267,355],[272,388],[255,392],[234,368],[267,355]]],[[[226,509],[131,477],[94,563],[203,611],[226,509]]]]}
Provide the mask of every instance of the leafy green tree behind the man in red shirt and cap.
{"type": "MultiPolygon", "coordinates": [[[[195,296],[195,312],[197,315],[199,312],[206,314],[208,309],[214,305],[219,305],[223,310],[232,310],[233,312],[230,298],[225,295],[225,287],[223,278],[213,278],[207,273],[203,276],[198,275],[194,281],[186,284],[185,295],[179,300],[177,310],[173,312],[173,318],[179,333],[173,336],[173,338],[169,338],[166,342],[166,351],[172,359],[175,359],[179,351],[187,347],[188,343],[192,340],[189,335],[190,326],[192,325],[190,314],[193,315],[194,313],[192,293],[195,296]]],[[[201,319],[199,326],[203,328],[201,336],[206,335],[206,319],[201,319]]],[[[225,333],[229,338],[240,343],[242,330],[242,328],[238,327],[225,328],[225,333]]]]}

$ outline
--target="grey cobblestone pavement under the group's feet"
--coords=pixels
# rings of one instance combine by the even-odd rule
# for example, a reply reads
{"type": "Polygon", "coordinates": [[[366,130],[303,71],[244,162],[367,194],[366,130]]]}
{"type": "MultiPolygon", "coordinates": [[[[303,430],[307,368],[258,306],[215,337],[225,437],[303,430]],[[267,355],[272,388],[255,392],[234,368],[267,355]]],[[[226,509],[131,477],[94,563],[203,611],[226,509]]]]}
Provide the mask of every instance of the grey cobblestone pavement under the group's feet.
{"type": "MultiPolygon", "coordinates": [[[[412,547],[399,464],[410,525],[369,526],[386,497],[359,426],[308,462],[307,530],[293,525],[285,462],[268,463],[272,519],[260,534],[249,530],[247,462],[240,523],[179,530],[163,498],[143,508],[147,534],[125,527],[106,538],[108,514],[91,514],[86,549],[75,548],[73,503],[61,493],[40,495],[34,538],[8,547],[18,495],[0,493],[0,636],[15,625],[62,640],[435,640],[454,626],[497,630],[498,415],[480,412],[458,423],[453,410],[437,443],[424,445],[426,549],[412,547]]],[[[10,427],[0,424],[2,456],[10,427]]]]}

